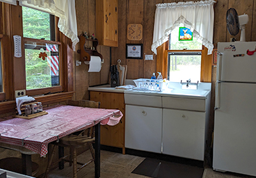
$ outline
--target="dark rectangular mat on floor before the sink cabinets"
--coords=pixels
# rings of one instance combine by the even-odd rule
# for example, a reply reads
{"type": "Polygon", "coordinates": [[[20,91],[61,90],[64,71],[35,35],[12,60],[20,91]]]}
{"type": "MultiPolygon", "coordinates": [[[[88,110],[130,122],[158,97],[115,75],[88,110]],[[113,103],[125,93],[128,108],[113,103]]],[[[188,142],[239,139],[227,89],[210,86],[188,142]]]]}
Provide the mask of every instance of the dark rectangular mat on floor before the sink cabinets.
{"type": "Polygon", "coordinates": [[[146,158],[132,173],[154,178],[202,178],[204,168],[146,158]]]}

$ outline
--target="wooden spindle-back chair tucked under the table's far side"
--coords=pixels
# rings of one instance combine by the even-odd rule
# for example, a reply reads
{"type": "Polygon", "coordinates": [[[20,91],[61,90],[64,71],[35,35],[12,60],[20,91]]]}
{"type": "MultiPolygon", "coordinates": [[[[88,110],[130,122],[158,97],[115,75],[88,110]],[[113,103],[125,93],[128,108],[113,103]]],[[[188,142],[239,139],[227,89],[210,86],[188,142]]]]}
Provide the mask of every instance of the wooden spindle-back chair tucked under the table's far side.
{"type": "MultiPolygon", "coordinates": [[[[100,102],[93,102],[93,101],[87,101],[87,100],[79,100],[79,101],[67,100],[66,104],[71,106],[81,106],[81,107],[88,107],[88,108],[99,108],[100,106],[100,102]]],[[[73,163],[73,178],[77,178],[77,172],[81,170],[81,168],[84,168],[89,163],[92,163],[95,159],[95,153],[93,149],[94,140],[95,140],[94,129],[90,128],[80,132],[73,133],[69,136],[65,136],[64,138],[61,138],[58,143],[57,142],[52,143],[54,144],[54,147],[52,149],[51,155],[49,156],[47,170],[45,171],[45,178],[49,173],[49,169],[51,167],[51,163],[53,161],[57,146],[70,148],[70,154],[58,159],[57,162],[66,161],[66,162],[69,162],[70,165],[72,165],[73,163]],[[92,159],[90,159],[90,161],[88,161],[87,163],[77,162],[77,149],[79,147],[88,147],[90,149],[90,154],[92,155],[92,159]],[[67,159],[68,157],[70,157],[70,159],[67,159]],[[81,167],[77,168],[77,164],[81,165],[81,167]]]]}

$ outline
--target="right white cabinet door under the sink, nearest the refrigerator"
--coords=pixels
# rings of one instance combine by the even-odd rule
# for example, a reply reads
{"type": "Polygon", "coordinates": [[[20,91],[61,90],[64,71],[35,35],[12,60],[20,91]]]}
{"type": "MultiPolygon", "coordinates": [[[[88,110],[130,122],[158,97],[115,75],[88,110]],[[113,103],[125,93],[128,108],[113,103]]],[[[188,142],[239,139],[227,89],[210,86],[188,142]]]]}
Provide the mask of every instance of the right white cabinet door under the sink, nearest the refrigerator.
{"type": "Polygon", "coordinates": [[[163,108],[163,154],[204,160],[205,113],[163,108]]]}

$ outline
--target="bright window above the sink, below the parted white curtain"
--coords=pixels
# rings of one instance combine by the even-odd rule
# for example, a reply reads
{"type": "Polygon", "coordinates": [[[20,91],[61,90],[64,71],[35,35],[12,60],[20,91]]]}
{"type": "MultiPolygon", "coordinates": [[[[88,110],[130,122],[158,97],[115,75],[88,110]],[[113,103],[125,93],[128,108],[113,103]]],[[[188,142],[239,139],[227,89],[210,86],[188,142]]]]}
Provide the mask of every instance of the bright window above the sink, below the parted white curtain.
{"type": "MultiPolygon", "coordinates": [[[[170,81],[200,81],[202,44],[196,38],[179,40],[179,26],[169,35],[168,50],[168,80],[170,81]]],[[[188,29],[186,29],[187,31],[188,29]]]]}

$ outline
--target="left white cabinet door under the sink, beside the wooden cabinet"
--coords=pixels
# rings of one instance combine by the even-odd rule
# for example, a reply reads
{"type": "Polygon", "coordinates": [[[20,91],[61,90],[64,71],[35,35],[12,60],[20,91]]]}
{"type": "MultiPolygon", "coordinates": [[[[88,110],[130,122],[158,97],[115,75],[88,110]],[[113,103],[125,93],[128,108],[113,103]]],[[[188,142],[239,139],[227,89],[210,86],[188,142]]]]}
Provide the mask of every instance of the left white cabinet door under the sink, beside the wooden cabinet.
{"type": "Polygon", "coordinates": [[[162,108],[126,105],[125,147],[161,153],[162,108]]]}

